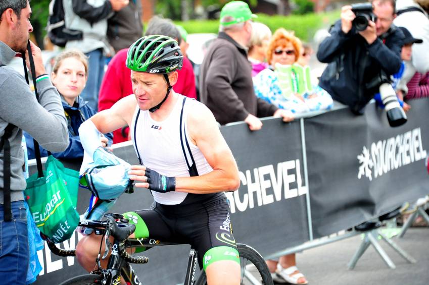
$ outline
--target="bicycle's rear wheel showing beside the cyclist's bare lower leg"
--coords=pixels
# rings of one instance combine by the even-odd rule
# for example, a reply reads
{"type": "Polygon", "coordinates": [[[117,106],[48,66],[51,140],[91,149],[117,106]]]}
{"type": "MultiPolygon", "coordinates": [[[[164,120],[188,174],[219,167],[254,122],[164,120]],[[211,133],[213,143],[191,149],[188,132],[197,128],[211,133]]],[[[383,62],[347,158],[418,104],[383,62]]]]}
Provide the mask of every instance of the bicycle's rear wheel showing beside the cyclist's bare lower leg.
{"type": "MultiPolygon", "coordinates": [[[[240,254],[241,285],[274,284],[270,270],[259,252],[257,252],[253,247],[245,244],[237,244],[237,250],[240,254]]],[[[201,272],[200,277],[195,284],[207,284],[206,272],[201,272]]]]}

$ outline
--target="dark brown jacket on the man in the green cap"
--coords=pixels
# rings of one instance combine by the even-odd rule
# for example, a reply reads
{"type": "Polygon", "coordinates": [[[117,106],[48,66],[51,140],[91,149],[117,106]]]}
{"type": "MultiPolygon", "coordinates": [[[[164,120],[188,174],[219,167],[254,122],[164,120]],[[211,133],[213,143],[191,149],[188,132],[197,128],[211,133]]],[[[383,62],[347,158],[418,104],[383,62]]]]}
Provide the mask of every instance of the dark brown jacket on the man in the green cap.
{"type": "Polygon", "coordinates": [[[244,121],[251,113],[272,116],[277,107],[256,97],[247,51],[224,32],[215,39],[201,65],[200,99],[221,125],[244,121]]]}

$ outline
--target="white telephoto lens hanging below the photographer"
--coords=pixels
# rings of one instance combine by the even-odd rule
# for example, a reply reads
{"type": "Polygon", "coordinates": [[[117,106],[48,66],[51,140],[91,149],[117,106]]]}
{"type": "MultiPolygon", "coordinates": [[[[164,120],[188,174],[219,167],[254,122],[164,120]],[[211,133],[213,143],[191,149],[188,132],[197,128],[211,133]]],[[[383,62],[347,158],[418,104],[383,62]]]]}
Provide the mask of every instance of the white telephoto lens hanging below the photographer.
{"type": "Polygon", "coordinates": [[[407,122],[407,115],[399,104],[396,92],[390,83],[380,85],[380,95],[386,107],[387,120],[391,127],[399,127],[407,122]]]}

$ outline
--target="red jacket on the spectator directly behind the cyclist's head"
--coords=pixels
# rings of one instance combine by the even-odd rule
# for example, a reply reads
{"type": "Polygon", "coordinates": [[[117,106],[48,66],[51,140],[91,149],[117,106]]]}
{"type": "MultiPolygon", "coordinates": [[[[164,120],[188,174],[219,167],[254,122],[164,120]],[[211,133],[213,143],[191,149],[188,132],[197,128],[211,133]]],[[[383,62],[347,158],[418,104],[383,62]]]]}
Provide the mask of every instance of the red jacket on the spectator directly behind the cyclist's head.
{"type": "MultiPolygon", "coordinates": [[[[127,51],[128,48],[118,51],[107,67],[100,87],[99,111],[109,109],[119,99],[133,93],[130,79],[131,71],[125,65],[127,51]]],[[[183,67],[178,71],[178,80],[173,89],[177,93],[197,99],[194,70],[186,57],[183,58],[183,67]]],[[[124,129],[123,132],[121,129],[114,131],[113,143],[127,141],[128,131],[128,128],[124,129]]]]}

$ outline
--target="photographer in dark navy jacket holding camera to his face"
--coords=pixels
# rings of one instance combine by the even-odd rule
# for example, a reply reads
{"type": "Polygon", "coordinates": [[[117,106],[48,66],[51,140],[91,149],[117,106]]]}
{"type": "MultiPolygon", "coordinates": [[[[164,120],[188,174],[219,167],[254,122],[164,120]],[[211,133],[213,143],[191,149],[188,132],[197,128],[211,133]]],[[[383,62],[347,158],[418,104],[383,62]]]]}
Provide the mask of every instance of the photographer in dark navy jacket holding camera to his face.
{"type": "Polygon", "coordinates": [[[331,27],[317,52],[317,59],[329,64],[320,87],[356,114],[363,113],[378,92],[381,74],[390,76],[401,67],[404,35],[392,25],[395,1],[374,0],[371,4],[373,11],[370,3],[343,7],[341,20],[331,27]]]}

